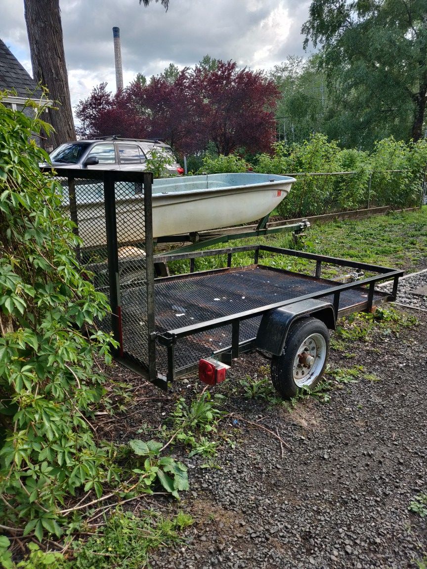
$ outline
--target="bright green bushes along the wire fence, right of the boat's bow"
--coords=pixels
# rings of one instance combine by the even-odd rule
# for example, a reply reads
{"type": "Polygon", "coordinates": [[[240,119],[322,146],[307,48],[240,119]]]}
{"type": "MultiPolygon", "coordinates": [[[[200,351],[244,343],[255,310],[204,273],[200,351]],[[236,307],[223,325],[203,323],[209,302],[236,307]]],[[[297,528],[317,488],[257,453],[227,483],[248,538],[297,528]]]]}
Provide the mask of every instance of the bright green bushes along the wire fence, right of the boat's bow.
{"type": "Polygon", "coordinates": [[[282,217],[291,218],[362,209],[368,205],[398,208],[418,205],[421,174],[426,164],[427,141],[406,145],[385,138],[368,155],[355,149],[342,150],[335,141],[329,142],[325,135],[317,133],[303,143],[290,146],[276,143],[271,155],[257,156],[254,171],[297,175],[289,196],[277,208],[282,217]],[[354,174],[312,175],[330,172],[354,174]]]}

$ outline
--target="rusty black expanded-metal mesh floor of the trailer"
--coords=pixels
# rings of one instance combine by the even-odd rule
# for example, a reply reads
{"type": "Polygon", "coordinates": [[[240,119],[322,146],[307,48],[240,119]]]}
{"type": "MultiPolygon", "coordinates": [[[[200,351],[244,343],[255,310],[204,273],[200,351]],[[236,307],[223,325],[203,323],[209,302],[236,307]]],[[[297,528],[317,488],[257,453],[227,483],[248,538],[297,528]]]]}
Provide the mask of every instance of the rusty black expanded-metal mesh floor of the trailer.
{"type": "MultiPolygon", "coordinates": [[[[336,284],[259,265],[165,279],[154,285],[155,327],[157,332],[182,328],[320,292],[336,284]]],[[[339,310],[353,306],[363,309],[367,296],[368,291],[363,287],[345,290],[340,294],[339,310]]],[[[325,298],[333,302],[332,296],[325,298]]],[[[374,303],[381,298],[381,294],[374,295],[374,303]]],[[[256,337],[260,320],[261,316],[256,316],[241,321],[240,342],[256,337]]],[[[201,357],[210,356],[230,345],[231,325],[179,339],[175,350],[176,368],[191,365],[201,357]]],[[[162,373],[167,367],[166,351],[159,345],[157,367],[162,373]]]]}

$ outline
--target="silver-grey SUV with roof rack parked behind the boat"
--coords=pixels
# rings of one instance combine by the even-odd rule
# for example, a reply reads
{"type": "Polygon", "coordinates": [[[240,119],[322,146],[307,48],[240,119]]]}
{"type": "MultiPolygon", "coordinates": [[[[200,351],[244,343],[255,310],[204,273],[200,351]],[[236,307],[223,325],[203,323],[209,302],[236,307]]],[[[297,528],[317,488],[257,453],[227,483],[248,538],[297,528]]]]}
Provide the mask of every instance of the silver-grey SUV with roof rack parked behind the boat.
{"type": "Polygon", "coordinates": [[[152,151],[166,155],[171,165],[167,174],[183,174],[171,147],[155,139],[111,136],[88,141],[66,142],[50,153],[52,166],[58,168],[89,168],[90,170],[145,170],[152,151]]]}

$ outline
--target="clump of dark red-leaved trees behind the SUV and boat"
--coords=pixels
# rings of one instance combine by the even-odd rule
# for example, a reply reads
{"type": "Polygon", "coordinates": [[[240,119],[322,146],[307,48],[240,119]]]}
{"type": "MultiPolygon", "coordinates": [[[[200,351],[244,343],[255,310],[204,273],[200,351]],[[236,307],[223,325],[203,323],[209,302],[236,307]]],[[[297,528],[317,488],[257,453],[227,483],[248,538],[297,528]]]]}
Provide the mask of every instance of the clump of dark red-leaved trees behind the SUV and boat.
{"type": "Polygon", "coordinates": [[[149,84],[133,81],[112,96],[102,83],[77,105],[82,137],[110,134],[160,138],[181,154],[206,149],[269,151],[279,93],[260,71],[218,61],[215,69],[184,68],[175,80],[160,75],[149,84]]]}

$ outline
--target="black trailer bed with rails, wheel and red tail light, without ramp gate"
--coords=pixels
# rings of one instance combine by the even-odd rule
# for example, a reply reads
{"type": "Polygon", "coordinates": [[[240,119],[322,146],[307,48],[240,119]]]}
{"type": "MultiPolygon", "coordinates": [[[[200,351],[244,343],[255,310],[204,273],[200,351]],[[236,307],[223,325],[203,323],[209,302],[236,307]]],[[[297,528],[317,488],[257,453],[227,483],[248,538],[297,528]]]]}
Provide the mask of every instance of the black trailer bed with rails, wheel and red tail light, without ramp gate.
{"type": "Polygon", "coordinates": [[[335,329],[336,320],[395,298],[403,274],[387,267],[267,245],[155,259],[187,259],[190,264],[188,274],[154,281],[157,366],[163,381],[172,382],[199,369],[202,381],[215,383],[214,368],[219,367],[215,362],[229,365],[240,353],[256,350],[271,361],[274,387],[286,398],[301,387],[313,387],[321,378],[329,353],[329,330],[335,329]],[[233,267],[233,258],[239,253],[252,254],[253,263],[233,267]],[[194,272],[194,259],[213,255],[227,258],[227,266],[194,272]],[[266,255],[309,259],[314,275],[264,265],[266,255]],[[321,277],[325,264],[373,274],[360,281],[338,283],[321,277]],[[377,283],[389,279],[393,279],[392,294],[375,290],[377,283]]]}

